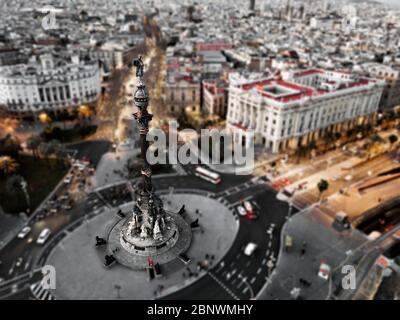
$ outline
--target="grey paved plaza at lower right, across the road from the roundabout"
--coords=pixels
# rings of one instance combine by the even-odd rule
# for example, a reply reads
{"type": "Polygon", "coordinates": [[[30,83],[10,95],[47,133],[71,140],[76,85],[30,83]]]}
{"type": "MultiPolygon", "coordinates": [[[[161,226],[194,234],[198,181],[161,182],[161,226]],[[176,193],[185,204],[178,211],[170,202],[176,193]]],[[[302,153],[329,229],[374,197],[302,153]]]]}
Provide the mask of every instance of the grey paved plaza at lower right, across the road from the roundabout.
{"type": "Polygon", "coordinates": [[[341,270],[333,273],[333,286],[330,282],[318,277],[318,270],[322,261],[327,263],[332,271],[347,258],[349,250],[355,251],[363,245],[367,238],[357,229],[343,232],[331,227],[333,219],[313,207],[293,216],[282,229],[281,243],[285,236],[292,237],[293,245],[286,251],[281,246],[277,266],[266,286],[261,290],[258,299],[261,300],[288,300],[293,288],[300,288],[301,299],[324,300],[329,293],[334,292],[341,282],[341,270]],[[305,243],[306,251],[301,253],[305,243]],[[301,285],[300,278],[311,285],[301,285]]]}

